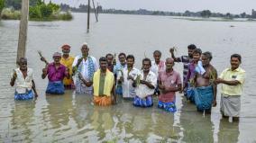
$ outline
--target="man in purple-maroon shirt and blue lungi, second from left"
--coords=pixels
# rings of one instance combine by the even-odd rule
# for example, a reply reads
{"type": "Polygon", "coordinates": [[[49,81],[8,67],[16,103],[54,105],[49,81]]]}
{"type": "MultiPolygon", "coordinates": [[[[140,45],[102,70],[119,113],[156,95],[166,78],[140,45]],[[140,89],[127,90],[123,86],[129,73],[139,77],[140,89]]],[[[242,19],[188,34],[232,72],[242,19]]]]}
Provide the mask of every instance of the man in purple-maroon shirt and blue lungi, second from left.
{"type": "Polygon", "coordinates": [[[59,52],[55,52],[52,58],[54,61],[43,68],[41,74],[42,79],[48,75],[49,83],[46,94],[64,94],[63,79],[65,76],[69,79],[69,68],[60,64],[61,54],[59,52]]]}

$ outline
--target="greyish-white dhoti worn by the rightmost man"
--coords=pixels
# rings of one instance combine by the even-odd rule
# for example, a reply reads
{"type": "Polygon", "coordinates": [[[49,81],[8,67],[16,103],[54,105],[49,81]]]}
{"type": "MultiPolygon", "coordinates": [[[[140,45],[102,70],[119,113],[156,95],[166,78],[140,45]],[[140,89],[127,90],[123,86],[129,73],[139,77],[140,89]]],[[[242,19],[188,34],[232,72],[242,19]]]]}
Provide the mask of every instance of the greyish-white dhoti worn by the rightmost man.
{"type": "Polygon", "coordinates": [[[224,116],[239,117],[241,109],[240,95],[226,95],[221,97],[221,112],[224,116]]]}

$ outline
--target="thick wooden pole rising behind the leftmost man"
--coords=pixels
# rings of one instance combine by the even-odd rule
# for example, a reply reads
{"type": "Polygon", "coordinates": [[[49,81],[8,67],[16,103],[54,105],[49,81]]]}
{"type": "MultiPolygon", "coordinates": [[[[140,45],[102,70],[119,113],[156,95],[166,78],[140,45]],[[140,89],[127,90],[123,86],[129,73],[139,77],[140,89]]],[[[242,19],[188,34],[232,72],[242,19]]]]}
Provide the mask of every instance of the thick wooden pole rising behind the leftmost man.
{"type": "Polygon", "coordinates": [[[27,30],[28,30],[28,18],[29,18],[29,0],[23,0],[16,61],[19,61],[20,58],[25,57],[27,30]]]}

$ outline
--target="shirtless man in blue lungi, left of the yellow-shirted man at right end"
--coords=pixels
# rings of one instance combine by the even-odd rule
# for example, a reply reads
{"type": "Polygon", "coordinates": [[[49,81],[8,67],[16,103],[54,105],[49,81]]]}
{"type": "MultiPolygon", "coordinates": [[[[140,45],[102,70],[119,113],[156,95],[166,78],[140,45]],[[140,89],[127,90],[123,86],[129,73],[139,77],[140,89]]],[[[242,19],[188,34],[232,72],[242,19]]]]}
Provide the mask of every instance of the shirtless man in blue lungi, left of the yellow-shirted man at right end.
{"type": "Polygon", "coordinates": [[[204,52],[201,61],[206,72],[201,75],[196,71],[194,94],[198,112],[210,113],[212,106],[216,106],[217,87],[214,80],[217,78],[217,71],[210,64],[212,58],[211,52],[204,52]]]}

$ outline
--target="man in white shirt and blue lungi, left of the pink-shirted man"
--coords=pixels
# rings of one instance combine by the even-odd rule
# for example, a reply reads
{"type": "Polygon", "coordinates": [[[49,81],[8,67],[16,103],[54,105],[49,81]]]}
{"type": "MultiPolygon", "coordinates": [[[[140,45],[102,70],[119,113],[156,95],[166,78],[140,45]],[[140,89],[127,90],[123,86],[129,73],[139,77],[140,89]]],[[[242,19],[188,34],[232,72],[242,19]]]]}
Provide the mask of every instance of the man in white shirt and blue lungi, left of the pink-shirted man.
{"type": "Polygon", "coordinates": [[[136,85],[134,106],[151,107],[153,105],[152,94],[154,94],[154,89],[157,86],[157,76],[151,72],[150,68],[151,59],[144,58],[142,60],[142,72],[137,76],[137,79],[133,79],[136,85]]]}

